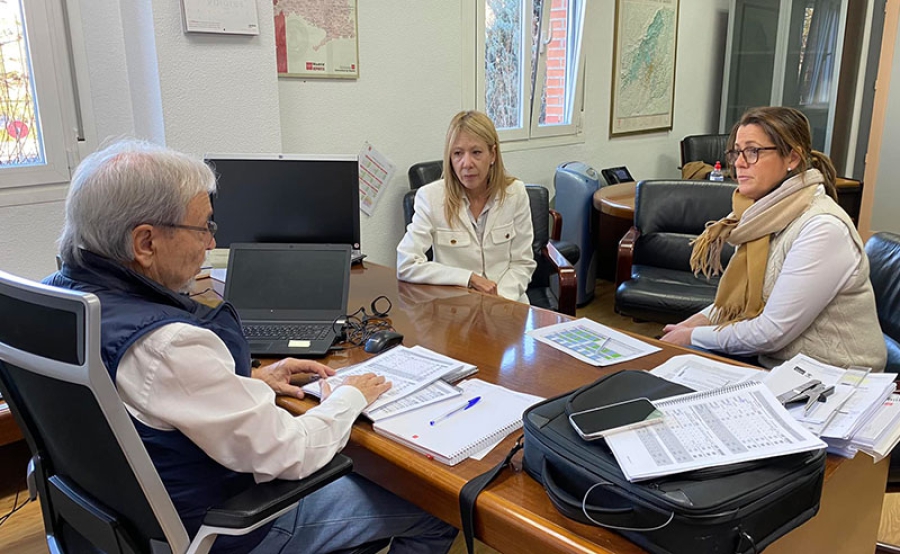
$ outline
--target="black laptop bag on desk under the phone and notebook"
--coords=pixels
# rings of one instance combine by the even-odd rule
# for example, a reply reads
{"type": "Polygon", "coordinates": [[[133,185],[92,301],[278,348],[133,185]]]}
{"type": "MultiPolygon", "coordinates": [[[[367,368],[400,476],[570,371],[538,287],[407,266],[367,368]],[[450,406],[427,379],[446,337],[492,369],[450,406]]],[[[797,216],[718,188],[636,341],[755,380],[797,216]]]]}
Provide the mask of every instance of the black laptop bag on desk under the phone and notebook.
{"type": "Polygon", "coordinates": [[[659,554],[759,552],[816,514],[824,450],[629,483],[606,442],[585,441],[568,419],[636,397],[686,392],[644,371],[620,371],[536,404],[524,414],[525,471],[563,515],[659,554]]]}

